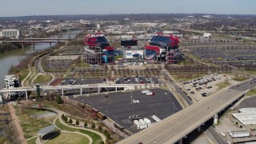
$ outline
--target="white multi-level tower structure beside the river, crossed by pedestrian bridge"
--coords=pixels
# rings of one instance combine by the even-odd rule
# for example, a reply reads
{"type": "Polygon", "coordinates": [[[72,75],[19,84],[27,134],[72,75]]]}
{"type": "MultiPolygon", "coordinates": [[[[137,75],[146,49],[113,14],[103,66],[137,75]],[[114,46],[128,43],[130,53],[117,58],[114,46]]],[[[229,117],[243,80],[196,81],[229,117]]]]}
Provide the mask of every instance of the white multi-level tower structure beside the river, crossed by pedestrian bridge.
{"type": "MultiPolygon", "coordinates": [[[[14,75],[6,75],[5,78],[6,82],[6,89],[14,89],[15,87],[20,87],[21,82],[19,78],[14,77],[14,75]]],[[[23,92],[7,92],[3,95],[3,98],[5,99],[13,99],[16,97],[22,96],[23,92]]]]}

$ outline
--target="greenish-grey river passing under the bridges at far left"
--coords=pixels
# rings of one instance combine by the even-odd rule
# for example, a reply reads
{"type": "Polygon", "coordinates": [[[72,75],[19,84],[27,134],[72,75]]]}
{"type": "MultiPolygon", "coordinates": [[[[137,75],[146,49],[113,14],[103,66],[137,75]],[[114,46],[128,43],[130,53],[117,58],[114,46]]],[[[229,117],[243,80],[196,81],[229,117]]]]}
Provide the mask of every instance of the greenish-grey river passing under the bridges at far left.
{"type": "MultiPolygon", "coordinates": [[[[81,30],[70,30],[70,38],[74,38],[78,33],[80,33],[81,30]]],[[[69,35],[67,35],[68,32],[63,33],[62,38],[69,38],[69,35]]],[[[53,37],[48,37],[53,38],[53,37]]],[[[58,38],[58,35],[54,35],[54,38],[58,38]]],[[[55,46],[57,43],[52,43],[52,46],[55,46]]],[[[34,49],[31,45],[30,47],[27,47],[22,51],[22,49],[19,50],[11,50],[9,52],[0,54],[0,88],[5,86],[4,78],[8,74],[8,70],[10,69],[10,66],[17,66],[18,63],[22,60],[22,58],[26,57],[26,54],[33,53],[34,51],[38,50],[45,50],[47,48],[50,48],[49,43],[35,43],[34,49]]]]}

